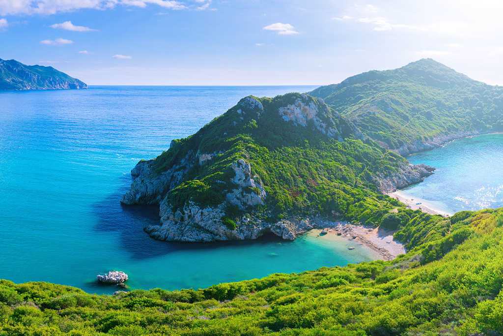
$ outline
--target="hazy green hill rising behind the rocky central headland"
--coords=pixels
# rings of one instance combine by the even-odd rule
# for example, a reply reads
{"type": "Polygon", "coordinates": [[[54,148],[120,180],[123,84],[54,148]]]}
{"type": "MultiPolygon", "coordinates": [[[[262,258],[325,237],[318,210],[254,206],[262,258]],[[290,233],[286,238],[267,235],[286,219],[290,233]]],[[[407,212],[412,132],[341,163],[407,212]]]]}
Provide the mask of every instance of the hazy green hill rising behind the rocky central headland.
{"type": "Polygon", "coordinates": [[[503,129],[503,88],[471,80],[433,59],[370,71],[310,94],[400,154],[503,129]]]}

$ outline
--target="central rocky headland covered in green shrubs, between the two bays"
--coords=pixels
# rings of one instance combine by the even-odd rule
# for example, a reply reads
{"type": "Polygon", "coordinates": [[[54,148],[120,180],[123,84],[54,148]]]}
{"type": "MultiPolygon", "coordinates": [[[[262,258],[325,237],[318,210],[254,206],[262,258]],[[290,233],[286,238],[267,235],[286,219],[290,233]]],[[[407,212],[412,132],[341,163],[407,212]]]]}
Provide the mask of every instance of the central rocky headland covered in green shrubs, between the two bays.
{"type": "Polygon", "coordinates": [[[266,233],[293,240],[330,225],[325,219],[349,218],[358,207],[352,203],[370,201],[362,190],[373,197],[429,173],[367,141],[321,99],[250,96],[156,159],[139,162],[122,203],[159,205],[159,224],[145,231],[160,240],[266,233]]]}

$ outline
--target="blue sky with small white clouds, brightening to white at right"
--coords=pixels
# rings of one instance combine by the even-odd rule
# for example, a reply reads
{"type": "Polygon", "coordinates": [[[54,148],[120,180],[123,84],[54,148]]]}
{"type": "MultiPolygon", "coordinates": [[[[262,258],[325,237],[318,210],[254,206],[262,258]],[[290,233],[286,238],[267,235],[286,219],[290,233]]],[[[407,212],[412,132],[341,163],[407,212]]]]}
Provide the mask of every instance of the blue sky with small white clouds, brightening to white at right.
{"type": "Polygon", "coordinates": [[[430,57],[503,85],[503,1],[0,0],[0,58],[90,85],[324,85],[430,57]]]}

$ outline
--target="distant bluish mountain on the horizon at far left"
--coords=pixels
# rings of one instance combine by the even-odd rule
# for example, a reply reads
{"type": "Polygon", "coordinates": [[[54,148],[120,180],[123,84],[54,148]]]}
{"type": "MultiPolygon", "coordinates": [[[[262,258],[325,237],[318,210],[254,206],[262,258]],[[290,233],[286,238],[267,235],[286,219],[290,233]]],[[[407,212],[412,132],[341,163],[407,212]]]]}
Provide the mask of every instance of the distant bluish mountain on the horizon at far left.
{"type": "Polygon", "coordinates": [[[52,66],[26,65],[0,58],[0,90],[87,89],[86,83],[52,66]]]}

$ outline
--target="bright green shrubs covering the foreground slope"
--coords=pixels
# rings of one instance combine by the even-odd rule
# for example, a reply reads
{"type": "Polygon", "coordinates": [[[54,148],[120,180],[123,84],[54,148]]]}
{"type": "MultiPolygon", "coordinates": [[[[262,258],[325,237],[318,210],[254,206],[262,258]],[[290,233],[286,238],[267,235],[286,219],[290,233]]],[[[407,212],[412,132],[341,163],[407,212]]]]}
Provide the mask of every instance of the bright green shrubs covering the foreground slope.
{"type": "Polygon", "coordinates": [[[503,209],[409,215],[432,234],[393,261],[113,296],[1,281],[0,335],[503,333],[503,209]]]}

